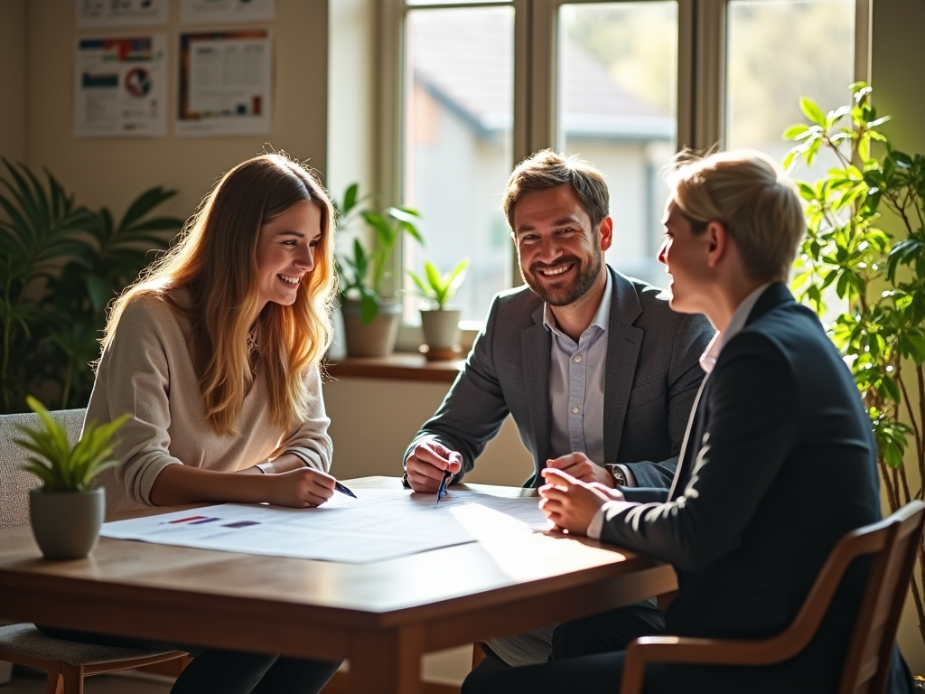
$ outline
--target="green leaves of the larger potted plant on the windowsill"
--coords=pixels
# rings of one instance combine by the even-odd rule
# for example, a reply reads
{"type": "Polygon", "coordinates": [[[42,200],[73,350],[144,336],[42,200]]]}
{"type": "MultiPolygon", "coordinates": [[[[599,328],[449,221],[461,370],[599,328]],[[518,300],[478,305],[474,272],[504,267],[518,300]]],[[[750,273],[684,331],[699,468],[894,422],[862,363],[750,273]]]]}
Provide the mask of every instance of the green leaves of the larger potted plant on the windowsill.
{"type": "Polygon", "coordinates": [[[332,201],[338,215],[340,229],[349,229],[357,217],[363,219],[367,229],[373,232],[372,249],[364,248],[359,238],[353,239],[352,255],[337,260],[340,277],[340,298],[360,300],[360,316],[365,324],[372,323],[379,313],[382,298],[382,282],[390,276],[389,260],[395,244],[402,233],[423,244],[424,238],[415,226],[420,217],[411,207],[387,207],[381,212],[367,209],[364,202],[372,196],[360,197],[359,184],[351,183],[344,192],[343,200],[332,201]]]}

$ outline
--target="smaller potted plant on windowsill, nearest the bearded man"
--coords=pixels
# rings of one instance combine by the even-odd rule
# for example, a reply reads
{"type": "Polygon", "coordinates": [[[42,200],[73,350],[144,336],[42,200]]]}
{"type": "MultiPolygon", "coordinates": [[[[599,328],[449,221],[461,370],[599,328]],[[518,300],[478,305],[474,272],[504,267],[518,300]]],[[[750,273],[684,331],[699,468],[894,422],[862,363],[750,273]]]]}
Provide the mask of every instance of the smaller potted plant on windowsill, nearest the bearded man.
{"type": "Polygon", "coordinates": [[[447,308],[446,304],[456,295],[456,290],[465,279],[469,258],[462,260],[450,272],[440,274],[436,265],[426,260],[424,277],[413,270],[408,270],[417,291],[414,294],[430,302],[430,308],[421,309],[421,325],[424,328],[425,352],[427,359],[442,361],[456,359],[460,353],[460,315],[459,309],[447,308]]]}

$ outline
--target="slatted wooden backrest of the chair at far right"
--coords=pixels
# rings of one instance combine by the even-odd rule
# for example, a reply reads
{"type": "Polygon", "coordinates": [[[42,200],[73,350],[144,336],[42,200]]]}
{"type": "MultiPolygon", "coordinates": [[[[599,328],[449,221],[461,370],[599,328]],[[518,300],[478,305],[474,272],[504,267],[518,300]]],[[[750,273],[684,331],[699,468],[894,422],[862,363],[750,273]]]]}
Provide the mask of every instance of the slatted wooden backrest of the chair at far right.
{"type": "Polygon", "coordinates": [[[893,644],[909,580],[922,547],[925,502],[914,501],[874,526],[859,528],[882,536],[857,613],[839,694],[882,694],[890,675],[893,644]]]}

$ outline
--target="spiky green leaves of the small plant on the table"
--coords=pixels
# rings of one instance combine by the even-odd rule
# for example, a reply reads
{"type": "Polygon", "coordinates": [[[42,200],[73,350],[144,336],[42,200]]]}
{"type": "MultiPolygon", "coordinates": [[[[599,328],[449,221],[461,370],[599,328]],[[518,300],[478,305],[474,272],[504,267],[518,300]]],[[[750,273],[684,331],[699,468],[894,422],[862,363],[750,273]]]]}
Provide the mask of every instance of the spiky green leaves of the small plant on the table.
{"type": "Polygon", "coordinates": [[[18,424],[16,428],[28,439],[14,441],[36,454],[29,457],[29,463],[22,469],[38,477],[44,491],[89,490],[94,477],[117,465],[111,460],[113,434],[125,424],[129,415],[122,415],[99,427],[96,422],[88,422],[80,440],[71,448],[68,432],[52,418],[42,403],[31,395],[26,397],[26,401],[32,412],[39,415],[44,429],[18,424]]]}

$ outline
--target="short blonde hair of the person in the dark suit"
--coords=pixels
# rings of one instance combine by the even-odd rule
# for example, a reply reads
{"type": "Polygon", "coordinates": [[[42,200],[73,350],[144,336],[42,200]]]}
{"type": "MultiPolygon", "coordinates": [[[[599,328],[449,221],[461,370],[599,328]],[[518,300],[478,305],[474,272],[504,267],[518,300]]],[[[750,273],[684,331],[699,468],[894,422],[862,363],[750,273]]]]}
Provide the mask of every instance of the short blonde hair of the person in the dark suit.
{"type": "Polygon", "coordinates": [[[694,233],[720,221],[742,255],[746,274],[785,281],[806,231],[796,186],[770,156],[739,150],[675,157],[671,199],[694,233]]]}

